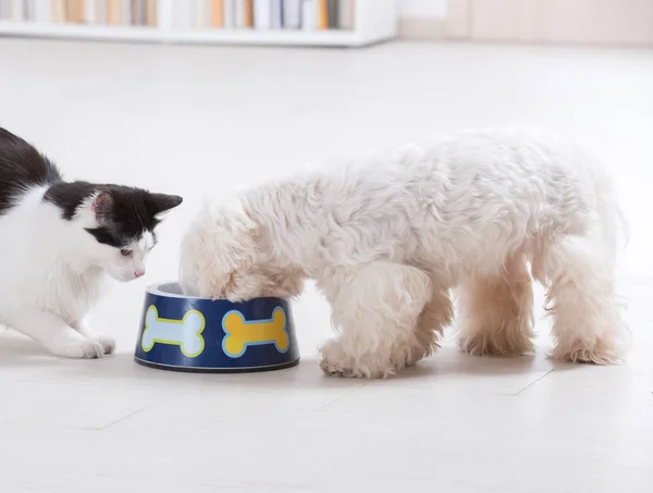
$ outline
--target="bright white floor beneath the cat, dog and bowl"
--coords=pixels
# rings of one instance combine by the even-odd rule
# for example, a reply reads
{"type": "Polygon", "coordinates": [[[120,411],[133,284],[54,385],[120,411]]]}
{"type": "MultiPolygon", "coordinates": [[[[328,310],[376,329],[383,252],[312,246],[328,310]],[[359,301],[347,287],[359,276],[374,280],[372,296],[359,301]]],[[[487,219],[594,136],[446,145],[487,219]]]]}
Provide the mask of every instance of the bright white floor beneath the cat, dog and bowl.
{"type": "MultiPolygon", "coordinates": [[[[653,482],[653,54],[395,44],[362,51],[0,39],[0,125],[69,177],[178,193],[145,280],[94,313],[101,360],[0,335],[0,491],[650,492],[653,482]],[[452,344],[386,381],[323,377],[328,307],[295,305],[301,363],[244,375],[132,357],[148,283],[175,278],[202,194],[442,128],[538,125],[612,162],[631,243],[628,365],[472,358],[452,344]]],[[[542,294],[538,292],[538,306],[542,294]]],[[[542,315],[540,309],[539,313],[542,315]]]]}

